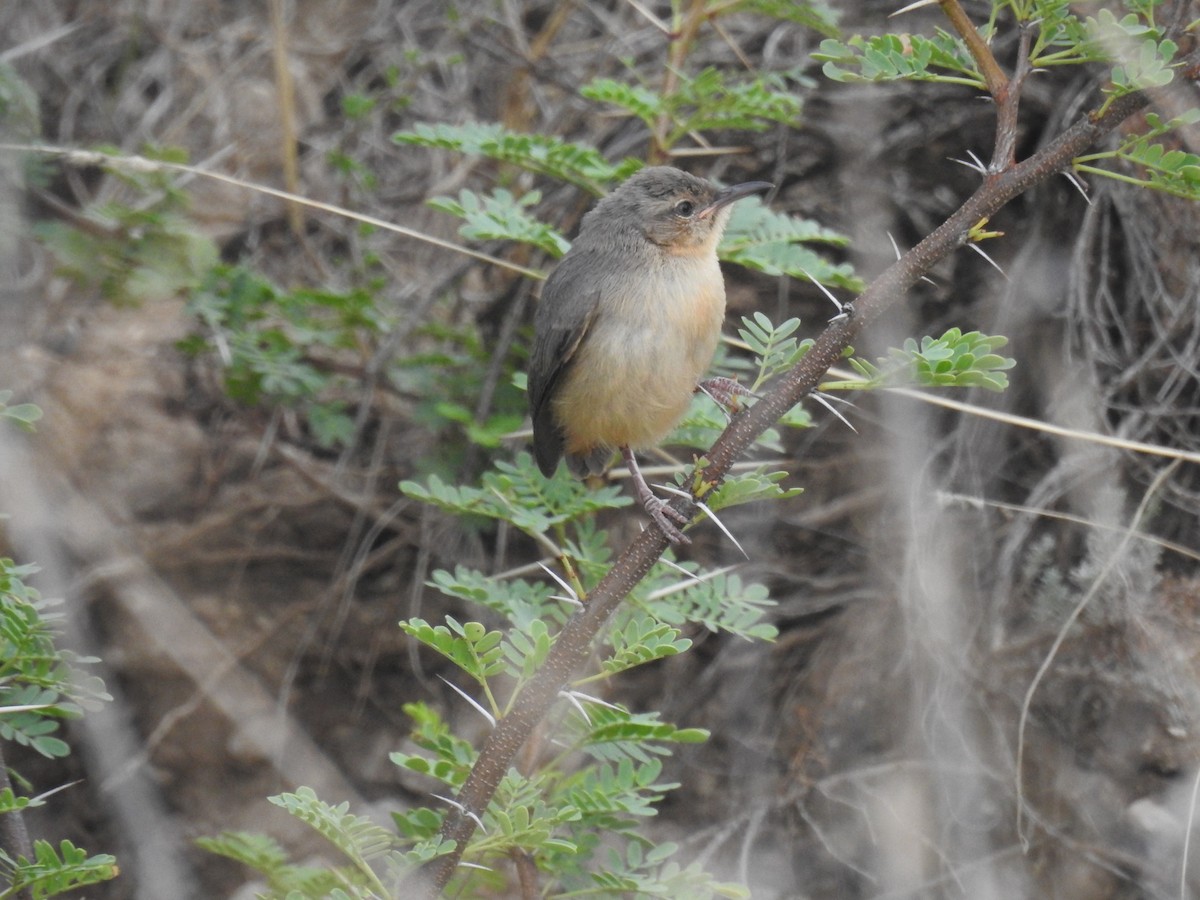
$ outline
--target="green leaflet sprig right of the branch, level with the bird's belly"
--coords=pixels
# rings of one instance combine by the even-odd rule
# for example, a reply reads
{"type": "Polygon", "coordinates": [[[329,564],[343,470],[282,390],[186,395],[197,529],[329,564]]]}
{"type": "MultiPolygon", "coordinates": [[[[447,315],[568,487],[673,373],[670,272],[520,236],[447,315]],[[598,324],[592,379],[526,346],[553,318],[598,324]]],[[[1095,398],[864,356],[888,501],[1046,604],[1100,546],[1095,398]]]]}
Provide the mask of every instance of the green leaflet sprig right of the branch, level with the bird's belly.
{"type": "Polygon", "coordinates": [[[878,365],[851,356],[850,365],[863,380],[833,382],[821,386],[823,390],[918,386],[1002,391],[1008,386],[1004,372],[1016,365],[1016,360],[995,353],[1007,343],[1007,337],[979,331],[962,334],[956,328],[941,337],[925,336],[919,344],[910,337],[902,348],[892,348],[888,352],[890,359],[881,359],[878,365]]]}

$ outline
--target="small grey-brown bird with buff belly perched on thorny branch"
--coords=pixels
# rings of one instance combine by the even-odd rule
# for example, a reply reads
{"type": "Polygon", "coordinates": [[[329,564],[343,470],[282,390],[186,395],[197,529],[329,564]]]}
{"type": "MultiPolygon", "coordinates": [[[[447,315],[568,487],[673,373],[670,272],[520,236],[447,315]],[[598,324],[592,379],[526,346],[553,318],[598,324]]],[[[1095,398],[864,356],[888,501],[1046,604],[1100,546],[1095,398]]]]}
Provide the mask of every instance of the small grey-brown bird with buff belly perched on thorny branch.
{"type": "Polygon", "coordinates": [[[644,168],[583,217],[546,281],[534,317],[529,409],[538,467],[565,455],[578,478],[619,450],[638,500],[674,544],[683,516],[655,497],[635,450],[658,445],[707,390],[728,407],[746,394],[727,378],[701,383],[725,319],[716,245],[734,200],[772,187],[719,188],[676,168],[644,168]]]}

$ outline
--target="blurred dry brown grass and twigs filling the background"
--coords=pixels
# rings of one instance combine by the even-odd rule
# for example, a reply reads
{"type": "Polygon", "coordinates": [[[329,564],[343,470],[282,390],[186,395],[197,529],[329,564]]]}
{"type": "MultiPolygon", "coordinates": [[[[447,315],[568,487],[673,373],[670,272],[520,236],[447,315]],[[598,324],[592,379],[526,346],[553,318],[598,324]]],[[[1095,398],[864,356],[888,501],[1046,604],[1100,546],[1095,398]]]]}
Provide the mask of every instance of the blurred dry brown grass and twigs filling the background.
{"type": "MultiPolygon", "coordinates": [[[[638,124],[576,94],[622,74],[623,59],[660,71],[661,35],[632,4],[509,0],[450,16],[440,0],[296,0],[283,35],[288,118],[268,7],[7,4],[0,49],[36,94],[47,143],[178,145],[204,168],[286,187],[294,136],[299,193],[450,239],[455,223],[424,199],[486,185],[496,167],[396,146],[401,127],[502,121],[611,158],[646,152],[638,124]],[[354,95],[378,108],[347,116],[354,95]],[[377,182],[337,173],[331,154],[377,182]]],[[[875,28],[889,10],[844,4],[844,22],[875,28]]],[[[737,47],[756,66],[792,68],[817,40],[761,17],[727,30],[703,34],[689,65],[736,66],[737,47]]],[[[1024,150],[1088,90],[1034,82],[1024,150]]],[[[869,277],[892,257],[888,234],[910,246],[970,192],[976,175],[949,160],[990,146],[991,127],[967,91],[820,84],[802,128],[720,136],[738,150],[684,162],[774,181],[773,204],[850,234],[869,277]]],[[[587,203],[574,188],[520,186],[548,190],[544,209],[568,230],[587,203]]],[[[289,286],[346,287],[371,269],[396,324],[373,355],[337,360],[361,380],[361,427],[349,450],[328,452],[286,412],[224,398],[215,364],[175,349],[193,328],[180,298],[110,305],[56,276],[28,233],[6,238],[16,276],[0,311],[0,388],[46,420],[0,457],[5,552],[36,559],[43,593],[71,598],[73,640],[104,660],[118,695],[72,732],[70,773],[13,763],[37,790],[83,779],[34,828],[118,854],[125,876],[97,898],[230,895],[245,874],[188,839],[248,828],[312,846],[265,803],[282,788],[312,785],[380,812],[422,802],[386,758],[408,730],[401,703],[425,698],[478,726],[395,623],[454,611],[422,587],[432,568],[500,570],[533,553],[400,498],[397,482],[444,444],[420,397],[378,383],[389,354],[421,348],[430,322],[475,330],[494,376],[527,340],[530,283],[335,215],[304,211],[298,235],[277,199],[203,178],[186,187],[194,228],[226,259],[289,286]]],[[[137,202],[95,168],[5,190],[26,226],[137,202]]],[[[1004,334],[1014,385],[972,401],[1200,450],[1195,208],[1106,184],[1087,205],[1062,181],[992,224],[1007,234],[990,246],[1007,277],[960,253],[869,336],[868,354],[952,324],[1004,334]]],[[[812,330],[830,314],[794,283],[728,278],[732,314],[799,314],[812,330]]],[[[1200,468],[1164,478],[1163,458],[910,397],[864,397],[847,415],[857,434],[821,414],[793,440],[786,464],[803,497],[728,517],[746,575],[779,602],[781,638],[702,640],[613,688],[714,732],[673,760],[684,786],[654,827],[762,898],[1178,896],[1200,757],[1200,600],[1194,552],[1150,535],[1196,545],[1200,468]],[[1084,599],[1032,697],[1022,853],[1019,714],[1084,599]]],[[[463,478],[485,464],[467,454],[463,478]]],[[[618,534],[636,527],[628,518],[618,534]]],[[[736,562],[713,528],[697,529],[691,553],[736,562]]]]}

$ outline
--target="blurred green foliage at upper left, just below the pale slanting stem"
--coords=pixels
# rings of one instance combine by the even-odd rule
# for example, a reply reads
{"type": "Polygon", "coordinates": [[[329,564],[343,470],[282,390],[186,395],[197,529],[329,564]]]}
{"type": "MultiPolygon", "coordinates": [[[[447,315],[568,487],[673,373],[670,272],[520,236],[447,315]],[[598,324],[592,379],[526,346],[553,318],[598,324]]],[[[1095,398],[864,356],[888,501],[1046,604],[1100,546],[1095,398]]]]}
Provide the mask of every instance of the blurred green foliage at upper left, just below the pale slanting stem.
{"type": "MultiPolygon", "coordinates": [[[[143,151],[180,162],[173,149],[143,151]]],[[[216,245],[186,215],[175,176],[157,170],[113,169],[142,199],[100,203],[83,211],[86,228],[41,222],[35,232],[54,253],[59,271],[98,289],[113,302],[140,304],[186,294],[217,263],[216,245]]]]}

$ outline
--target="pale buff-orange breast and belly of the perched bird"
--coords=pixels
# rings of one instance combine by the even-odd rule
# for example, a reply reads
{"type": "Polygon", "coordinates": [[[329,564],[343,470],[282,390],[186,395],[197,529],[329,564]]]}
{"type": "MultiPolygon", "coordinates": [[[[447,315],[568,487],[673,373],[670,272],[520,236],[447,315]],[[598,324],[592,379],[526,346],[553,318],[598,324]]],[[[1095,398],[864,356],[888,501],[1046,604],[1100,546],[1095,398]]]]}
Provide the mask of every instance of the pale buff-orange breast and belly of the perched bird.
{"type": "Polygon", "coordinates": [[[606,274],[595,319],[556,398],[566,451],[659,443],[686,412],[724,319],[714,254],[655,253],[649,265],[606,274]]]}

